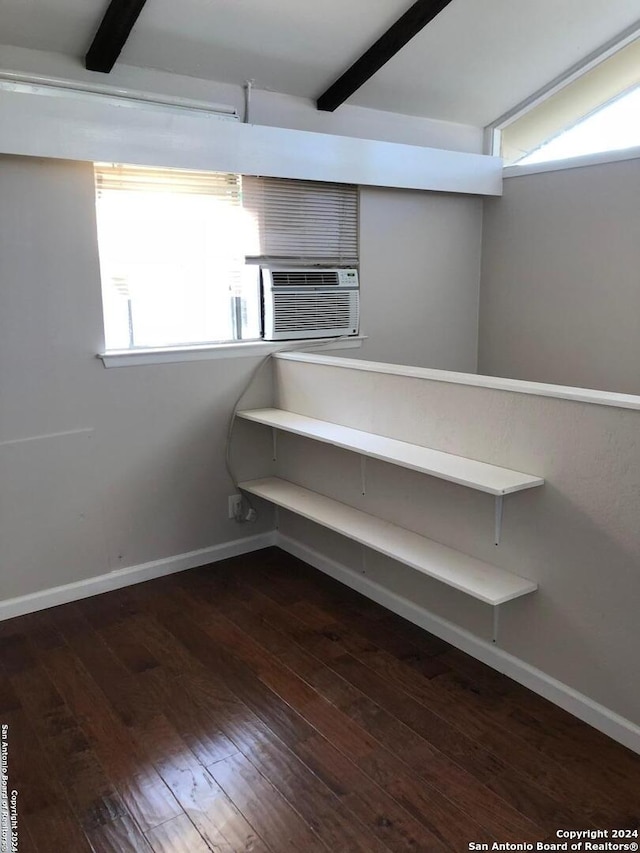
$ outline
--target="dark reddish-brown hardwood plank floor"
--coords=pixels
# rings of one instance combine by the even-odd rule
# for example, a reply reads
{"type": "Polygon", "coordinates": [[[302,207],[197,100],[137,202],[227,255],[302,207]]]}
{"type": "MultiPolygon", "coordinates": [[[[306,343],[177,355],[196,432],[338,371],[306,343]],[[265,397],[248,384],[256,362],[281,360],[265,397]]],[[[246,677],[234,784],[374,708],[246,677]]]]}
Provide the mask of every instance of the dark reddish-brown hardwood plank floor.
{"type": "Polygon", "coordinates": [[[0,623],[20,853],[640,826],[640,758],[277,549],[0,623]]]}

